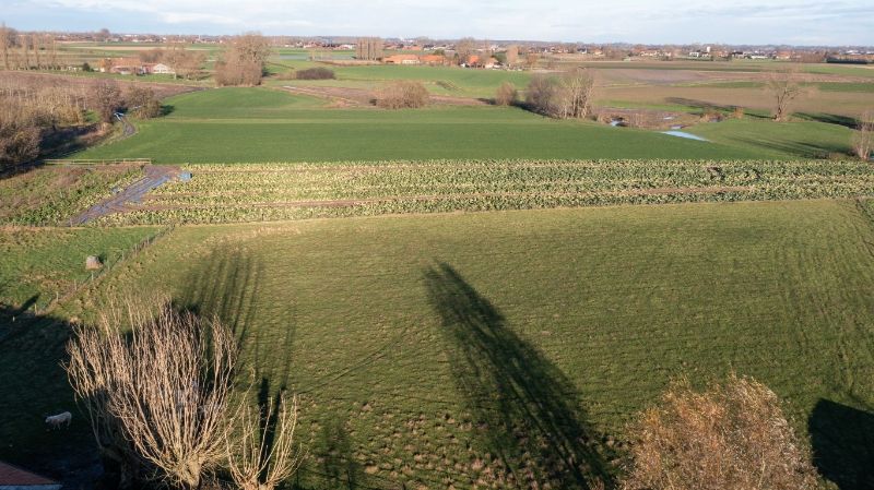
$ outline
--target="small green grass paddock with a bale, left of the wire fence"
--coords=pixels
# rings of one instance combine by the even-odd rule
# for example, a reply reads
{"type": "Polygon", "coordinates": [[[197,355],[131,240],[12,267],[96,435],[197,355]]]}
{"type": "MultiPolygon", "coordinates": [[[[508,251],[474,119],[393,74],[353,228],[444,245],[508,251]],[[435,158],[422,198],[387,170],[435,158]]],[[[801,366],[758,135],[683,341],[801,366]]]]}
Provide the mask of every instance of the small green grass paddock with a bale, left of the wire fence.
{"type": "Polygon", "coordinates": [[[91,276],[85,270],[86,256],[96,255],[104,264],[114,264],[156,230],[0,228],[0,304],[13,312],[33,307],[42,310],[91,276]]]}

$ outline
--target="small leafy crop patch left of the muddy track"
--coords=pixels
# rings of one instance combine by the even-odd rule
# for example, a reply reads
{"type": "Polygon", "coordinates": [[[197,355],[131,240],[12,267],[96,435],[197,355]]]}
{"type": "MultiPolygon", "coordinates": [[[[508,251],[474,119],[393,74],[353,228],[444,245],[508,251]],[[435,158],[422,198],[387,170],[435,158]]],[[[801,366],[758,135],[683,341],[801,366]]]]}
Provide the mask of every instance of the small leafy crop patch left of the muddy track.
{"type": "Polygon", "coordinates": [[[0,179],[0,225],[62,225],[142,177],[139,166],[47,166],[0,179]]]}

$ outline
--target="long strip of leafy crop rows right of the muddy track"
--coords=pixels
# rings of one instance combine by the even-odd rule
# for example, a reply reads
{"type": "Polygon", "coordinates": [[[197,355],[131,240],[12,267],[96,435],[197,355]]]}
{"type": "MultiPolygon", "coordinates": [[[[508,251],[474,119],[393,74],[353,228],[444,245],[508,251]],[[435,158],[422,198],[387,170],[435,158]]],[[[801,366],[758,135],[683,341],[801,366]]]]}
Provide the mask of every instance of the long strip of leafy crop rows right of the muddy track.
{"type": "Polygon", "coordinates": [[[874,194],[861,162],[438,160],[191,165],[103,224],[229,223],[874,194]]]}

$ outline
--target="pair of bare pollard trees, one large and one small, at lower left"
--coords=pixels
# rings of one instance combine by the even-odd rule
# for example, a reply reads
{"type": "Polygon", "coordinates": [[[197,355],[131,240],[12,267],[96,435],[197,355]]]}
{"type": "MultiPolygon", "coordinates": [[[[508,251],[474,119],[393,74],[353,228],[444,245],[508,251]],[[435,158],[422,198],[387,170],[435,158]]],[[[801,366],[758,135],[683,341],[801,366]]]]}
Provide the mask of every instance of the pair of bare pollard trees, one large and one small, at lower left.
{"type": "Polygon", "coordinates": [[[296,398],[252,407],[237,393],[238,347],[217,320],[129,303],[79,326],[66,364],[121,488],[199,488],[225,469],[243,490],[270,490],[298,467],[296,398]],[[125,327],[127,330],[125,330],[125,327]]]}

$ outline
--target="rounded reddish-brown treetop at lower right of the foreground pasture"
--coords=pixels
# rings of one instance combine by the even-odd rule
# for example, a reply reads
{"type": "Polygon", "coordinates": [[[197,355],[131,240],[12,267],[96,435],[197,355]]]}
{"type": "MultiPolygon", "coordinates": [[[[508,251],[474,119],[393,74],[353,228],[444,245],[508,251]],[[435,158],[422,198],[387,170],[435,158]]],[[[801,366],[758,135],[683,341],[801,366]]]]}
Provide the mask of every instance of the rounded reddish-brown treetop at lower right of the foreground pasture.
{"type": "Polygon", "coordinates": [[[732,375],[704,393],[675,383],[631,431],[624,490],[813,490],[816,470],[777,395],[732,375]]]}

